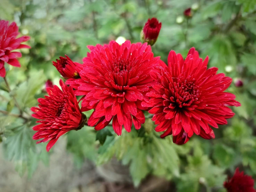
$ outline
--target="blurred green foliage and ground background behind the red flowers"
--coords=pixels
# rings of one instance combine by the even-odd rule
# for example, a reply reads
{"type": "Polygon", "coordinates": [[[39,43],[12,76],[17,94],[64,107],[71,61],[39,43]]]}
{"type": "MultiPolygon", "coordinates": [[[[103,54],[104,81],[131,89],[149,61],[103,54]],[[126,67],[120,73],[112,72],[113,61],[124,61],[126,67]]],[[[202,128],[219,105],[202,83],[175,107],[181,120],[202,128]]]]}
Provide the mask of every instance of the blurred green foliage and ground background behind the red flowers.
{"type": "Polygon", "coordinates": [[[1,192],[225,192],[223,182],[236,167],[256,178],[255,0],[0,0],[0,5],[0,19],[15,21],[22,35],[31,36],[32,47],[21,50],[21,68],[6,65],[12,91],[0,78],[1,110],[18,113],[15,95],[31,114],[29,108],[45,95],[46,80],[60,79],[52,61],[67,54],[82,63],[87,45],[118,37],[139,42],[152,17],[162,22],[152,46],[155,56],[167,62],[170,50],[185,57],[194,46],[200,57],[209,56],[208,67],[232,77],[228,91],[242,105],[232,108],[236,115],[228,125],[214,129],[214,140],[194,136],[178,146],[171,136],[153,136],[149,120],[139,132],[120,137],[112,128],[70,131],[49,153],[32,140],[35,120],[0,114],[1,192]],[[190,18],[183,14],[187,8],[190,18]],[[144,142],[145,137],[150,139],[144,142]]]}

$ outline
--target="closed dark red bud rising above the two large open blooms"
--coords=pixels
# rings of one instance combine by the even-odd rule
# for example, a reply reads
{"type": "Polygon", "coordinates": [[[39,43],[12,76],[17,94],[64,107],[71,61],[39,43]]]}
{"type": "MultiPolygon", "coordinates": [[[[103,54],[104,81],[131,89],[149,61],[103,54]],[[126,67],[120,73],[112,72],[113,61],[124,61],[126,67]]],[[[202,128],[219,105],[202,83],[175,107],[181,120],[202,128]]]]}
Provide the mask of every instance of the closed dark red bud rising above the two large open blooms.
{"type": "Polygon", "coordinates": [[[150,45],[154,45],[161,27],[162,23],[159,23],[156,18],[148,19],[140,34],[141,40],[143,42],[147,42],[150,45]]]}

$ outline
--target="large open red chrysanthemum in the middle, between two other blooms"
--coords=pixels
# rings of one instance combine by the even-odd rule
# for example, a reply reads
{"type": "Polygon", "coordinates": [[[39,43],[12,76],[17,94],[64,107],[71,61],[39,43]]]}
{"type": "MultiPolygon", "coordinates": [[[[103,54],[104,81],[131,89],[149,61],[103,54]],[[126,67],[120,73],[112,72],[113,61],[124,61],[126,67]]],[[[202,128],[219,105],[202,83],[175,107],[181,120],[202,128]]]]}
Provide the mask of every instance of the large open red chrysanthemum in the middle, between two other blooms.
{"type": "MultiPolygon", "coordinates": [[[[122,125],[131,131],[131,125],[140,129],[145,122],[141,102],[152,86],[150,71],[159,62],[146,43],[121,46],[115,41],[108,45],[88,46],[91,53],[83,59],[84,68],[79,71],[81,79],[72,86],[76,95],[84,95],[82,111],[95,109],[88,125],[103,129],[113,120],[113,129],[121,135],[122,125]]],[[[70,82],[66,82],[70,83],[70,82]]]]}

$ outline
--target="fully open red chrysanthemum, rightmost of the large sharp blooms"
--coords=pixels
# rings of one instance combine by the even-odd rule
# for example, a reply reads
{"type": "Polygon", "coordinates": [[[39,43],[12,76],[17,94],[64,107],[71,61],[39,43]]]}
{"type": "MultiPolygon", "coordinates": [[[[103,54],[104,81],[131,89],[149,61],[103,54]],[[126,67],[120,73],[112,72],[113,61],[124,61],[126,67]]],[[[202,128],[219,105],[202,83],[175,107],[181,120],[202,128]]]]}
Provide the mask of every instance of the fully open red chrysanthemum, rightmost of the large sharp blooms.
{"type": "Polygon", "coordinates": [[[233,94],[223,92],[232,79],[223,73],[216,75],[216,67],[207,70],[207,63],[208,56],[202,61],[193,47],[185,61],[181,54],[170,51],[168,67],[151,71],[157,85],[146,94],[150,100],[143,101],[142,106],[153,107],[149,113],[159,124],[155,130],[166,130],[161,138],[172,134],[177,144],[186,143],[193,133],[214,138],[209,125],[218,128],[218,124],[227,124],[226,119],[234,115],[227,106],[240,106],[233,94]]]}

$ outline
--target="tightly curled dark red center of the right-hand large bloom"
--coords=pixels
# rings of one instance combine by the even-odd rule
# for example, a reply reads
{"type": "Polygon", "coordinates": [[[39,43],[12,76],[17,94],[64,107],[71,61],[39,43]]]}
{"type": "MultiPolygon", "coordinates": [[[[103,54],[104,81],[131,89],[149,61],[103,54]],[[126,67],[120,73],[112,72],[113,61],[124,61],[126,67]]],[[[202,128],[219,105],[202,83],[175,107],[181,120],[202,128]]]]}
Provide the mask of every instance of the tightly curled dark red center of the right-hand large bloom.
{"type": "Polygon", "coordinates": [[[177,107],[190,106],[193,102],[198,101],[201,91],[195,84],[195,79],[172,78],[170,83],[170,102],[177,107]]]}

